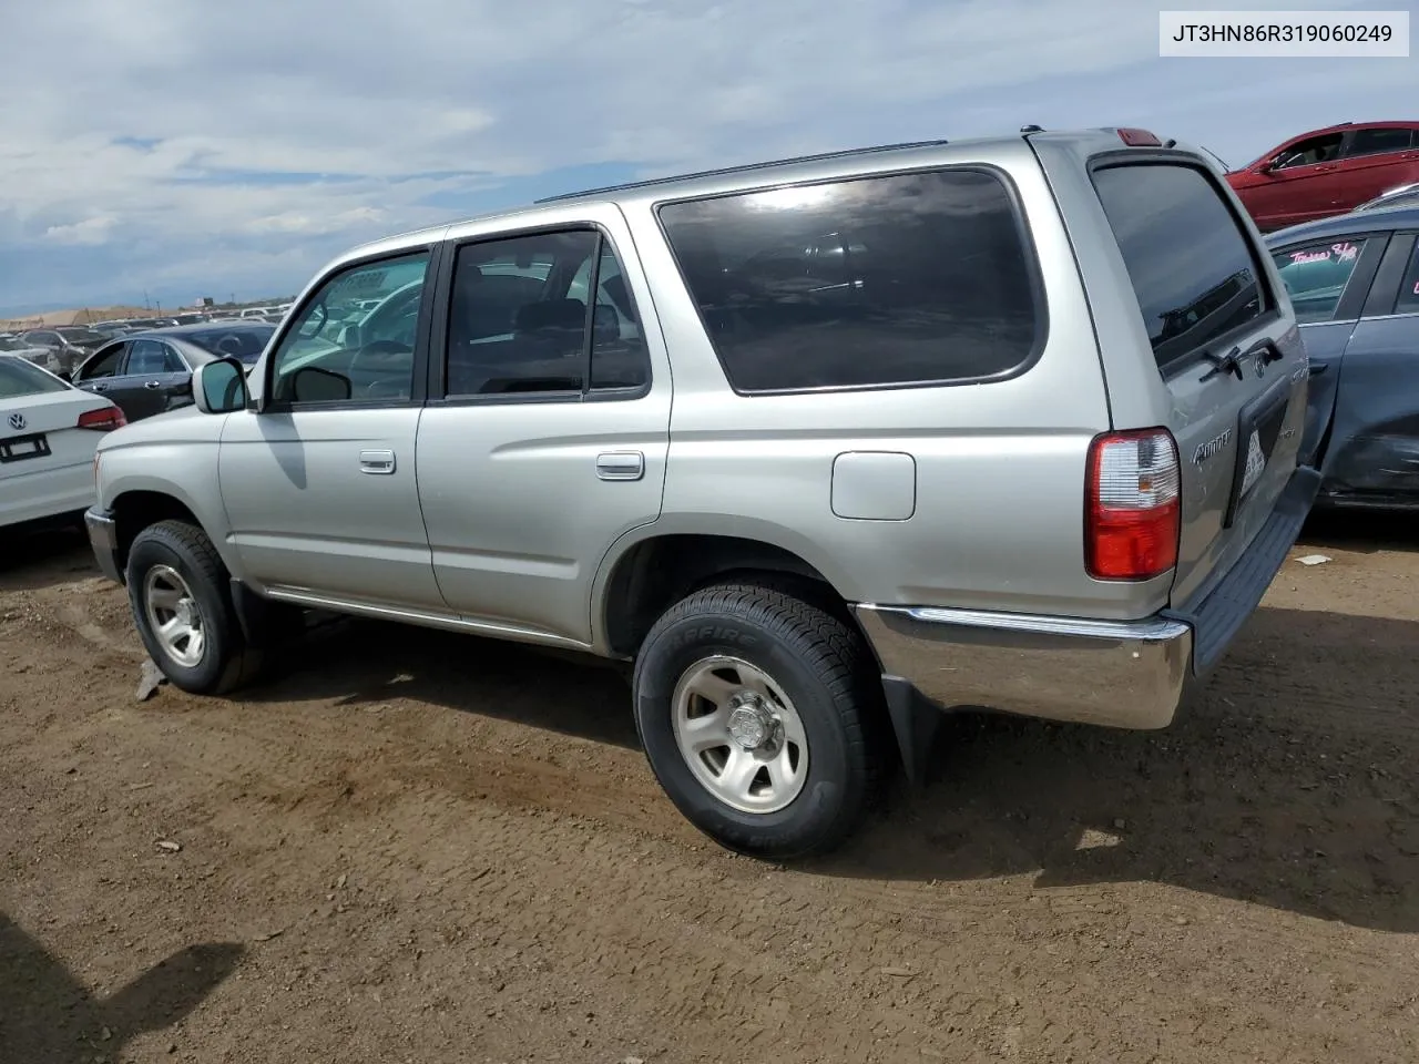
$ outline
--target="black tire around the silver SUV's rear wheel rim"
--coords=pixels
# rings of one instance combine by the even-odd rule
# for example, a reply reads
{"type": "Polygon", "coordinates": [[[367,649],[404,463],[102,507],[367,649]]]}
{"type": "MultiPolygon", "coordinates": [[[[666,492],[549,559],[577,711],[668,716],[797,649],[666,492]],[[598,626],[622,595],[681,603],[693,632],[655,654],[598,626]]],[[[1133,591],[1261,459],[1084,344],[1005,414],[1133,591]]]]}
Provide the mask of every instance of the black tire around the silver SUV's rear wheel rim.
{"type": "Polygon", "coordinates": [[[885,769],[885,705],[861,634],[820,604],[759,583],[714,584],[656,621],[636,658],[636,729],[680,811],[721,846],[759,858],[823,854],[857,827],[885,769]],[[807,738],[807,772],[783,809],[746,813],[691,770],[674,728],[681,677],[714,655],[768,674],[807,738]]]}

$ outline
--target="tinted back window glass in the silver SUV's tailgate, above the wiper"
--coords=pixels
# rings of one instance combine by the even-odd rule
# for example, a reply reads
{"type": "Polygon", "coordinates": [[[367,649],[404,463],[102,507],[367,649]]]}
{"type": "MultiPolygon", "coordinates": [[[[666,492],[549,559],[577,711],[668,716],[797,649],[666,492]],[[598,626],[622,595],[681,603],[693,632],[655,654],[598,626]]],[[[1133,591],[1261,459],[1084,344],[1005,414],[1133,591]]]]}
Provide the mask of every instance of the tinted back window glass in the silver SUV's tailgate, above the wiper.
{"type": "Polygon", "coordinates": [[[1259,318],[1266,292],[1222,192],[1192,166],[1131,163],[1094,173],[1154,356],[1168,366],[1259,318]]]}

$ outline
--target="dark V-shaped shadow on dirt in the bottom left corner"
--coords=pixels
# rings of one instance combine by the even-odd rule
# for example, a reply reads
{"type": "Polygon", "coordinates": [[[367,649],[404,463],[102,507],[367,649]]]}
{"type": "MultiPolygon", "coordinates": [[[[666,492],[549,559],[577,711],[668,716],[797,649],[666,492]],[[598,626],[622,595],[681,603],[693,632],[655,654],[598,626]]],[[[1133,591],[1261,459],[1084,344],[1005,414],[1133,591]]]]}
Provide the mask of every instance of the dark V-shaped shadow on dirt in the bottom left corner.
{"type": "Polygon", "coordinates": [[[189,946],[98,999],[0,912],[0,1061],[88,1064],[182,1020],[236,969],[234,943],[189,946]]]}

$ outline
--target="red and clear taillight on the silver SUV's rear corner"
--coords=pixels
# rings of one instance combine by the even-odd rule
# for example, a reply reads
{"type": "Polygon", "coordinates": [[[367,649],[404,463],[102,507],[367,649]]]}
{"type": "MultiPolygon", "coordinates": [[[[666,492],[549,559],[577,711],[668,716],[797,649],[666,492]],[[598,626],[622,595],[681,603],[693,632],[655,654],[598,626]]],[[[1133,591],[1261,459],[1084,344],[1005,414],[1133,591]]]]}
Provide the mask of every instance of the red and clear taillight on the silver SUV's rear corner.
{"type": "Polygon", "coordinates": [[[1149,580],[1178,565],[1178,444],[1165,428],[1100,436],[1088,448],[1084,555],[1095,580],[1149,580]]]}

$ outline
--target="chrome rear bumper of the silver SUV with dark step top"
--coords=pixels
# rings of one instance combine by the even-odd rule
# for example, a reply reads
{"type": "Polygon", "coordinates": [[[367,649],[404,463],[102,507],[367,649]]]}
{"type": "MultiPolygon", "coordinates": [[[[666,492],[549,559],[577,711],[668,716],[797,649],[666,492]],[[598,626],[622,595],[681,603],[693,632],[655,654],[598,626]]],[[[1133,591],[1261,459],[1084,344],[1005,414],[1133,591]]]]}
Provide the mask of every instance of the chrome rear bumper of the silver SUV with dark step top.
{"type": "Polygon", "coordinates": [[[1166,728],[1256,610],[1305,522],[1320,474],[1300,468],[1236,565],[1186,610],[1135,621],[860,604],[884,675],[945,708],[1112,728],[1166,728]]]}

